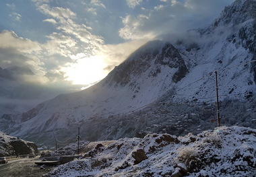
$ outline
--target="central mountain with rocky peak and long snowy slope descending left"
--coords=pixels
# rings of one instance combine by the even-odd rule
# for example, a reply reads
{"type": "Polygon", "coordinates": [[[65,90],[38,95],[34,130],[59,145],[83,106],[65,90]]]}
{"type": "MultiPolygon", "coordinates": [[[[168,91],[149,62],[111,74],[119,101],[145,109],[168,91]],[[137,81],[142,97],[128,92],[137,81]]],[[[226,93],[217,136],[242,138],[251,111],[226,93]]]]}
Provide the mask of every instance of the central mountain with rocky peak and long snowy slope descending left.
{"type": "MultiPolygon", "coordinates": [[[[94,116],[108,117],[154,102],[178,82],[188,69],[174,46],[160,41],[143,46],[100,83],[73,94],[63,94],[22,114],[13,135],[63,129],[94,116]],[[152,45],[156,45],[151,50],[152,45]],[[166,79],[166,76],[170,79],[166,79]],[[26,127],[23,129],[22,127],[26,127]]],[[[13,118],[17,119],[17,118],[13,118]]],[[[14,128],[13,128],[14,127],[14,128]]],[[[13,129],[10,127],[5,131],[13,129]]]]}

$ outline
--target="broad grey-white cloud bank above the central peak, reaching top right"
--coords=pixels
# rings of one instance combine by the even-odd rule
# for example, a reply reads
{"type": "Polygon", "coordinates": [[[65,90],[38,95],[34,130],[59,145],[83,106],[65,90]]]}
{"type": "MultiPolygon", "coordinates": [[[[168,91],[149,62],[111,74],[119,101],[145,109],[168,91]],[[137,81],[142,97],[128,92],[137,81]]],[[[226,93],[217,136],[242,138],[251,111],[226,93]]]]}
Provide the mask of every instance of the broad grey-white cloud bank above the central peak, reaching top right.
{"type": "MultiPolygon", "coordinates": [[[[211,23],[225,5],[234,0],[170,0],[154,9],[143,7],[141,14],[122,17],[119,36],[125,40],[156,38],[162,34],[185,32],[211,23]]],[[[127,1],[128,2],[128,1],[127,1]]]]}

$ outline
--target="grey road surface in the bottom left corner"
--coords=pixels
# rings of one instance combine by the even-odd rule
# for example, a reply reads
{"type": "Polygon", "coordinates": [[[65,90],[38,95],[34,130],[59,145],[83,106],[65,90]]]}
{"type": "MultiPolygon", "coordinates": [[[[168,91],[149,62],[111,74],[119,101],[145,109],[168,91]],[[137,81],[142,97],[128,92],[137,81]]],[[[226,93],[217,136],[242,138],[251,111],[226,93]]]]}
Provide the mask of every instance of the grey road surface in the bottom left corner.
{"type": "Polygon", "coordinates": [[[0,176],[41,177],[43,174],[46,174],[54,168],[53,166],[44,166],[44,169],[41,169],[40,166],[34,164],[34,162],[38,161],[40,161],[38,157],[9,160],[8,164],[0,164],[0,176]]]}

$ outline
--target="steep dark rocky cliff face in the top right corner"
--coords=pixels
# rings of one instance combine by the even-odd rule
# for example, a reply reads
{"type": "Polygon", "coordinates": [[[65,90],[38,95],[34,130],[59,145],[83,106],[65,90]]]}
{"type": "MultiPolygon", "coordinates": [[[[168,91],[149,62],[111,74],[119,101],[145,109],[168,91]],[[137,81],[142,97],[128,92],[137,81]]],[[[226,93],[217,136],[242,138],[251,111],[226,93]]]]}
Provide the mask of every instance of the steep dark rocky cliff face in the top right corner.
{"type": "MultiPolygon", "coordinates": [[[[228,40],[235,43],[236,40],[241,45],[254,54],[252,60],[256,59],[256,1],[239,0],[226,7],[222,14],[212,24],[214,28],[228,26],[233,28],[233,34],[228,40]]],[[[251,72],[256,82],[256,63],[251,63],[251,72]]]]}

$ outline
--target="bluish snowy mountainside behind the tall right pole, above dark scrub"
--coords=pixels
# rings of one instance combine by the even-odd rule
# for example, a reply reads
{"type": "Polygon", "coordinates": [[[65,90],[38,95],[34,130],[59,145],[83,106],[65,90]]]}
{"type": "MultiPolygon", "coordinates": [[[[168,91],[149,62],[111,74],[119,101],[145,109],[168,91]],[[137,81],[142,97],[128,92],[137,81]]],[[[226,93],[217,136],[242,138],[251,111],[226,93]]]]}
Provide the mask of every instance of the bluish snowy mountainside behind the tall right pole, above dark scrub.
{"type": "Polygon", "coordinates": [[[195,99],[214,97],[215,75],[209,75],[214,71],[220,96],[243,99],[255,90],[255,8],[255,1],[235,1],[206,28],[191,30],[190,43],[177,46],[192,65],[179,87],[201,80],[178,93],[195,99]]]}

